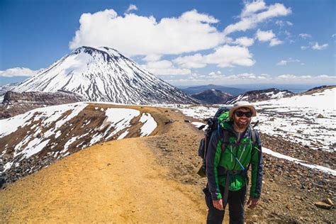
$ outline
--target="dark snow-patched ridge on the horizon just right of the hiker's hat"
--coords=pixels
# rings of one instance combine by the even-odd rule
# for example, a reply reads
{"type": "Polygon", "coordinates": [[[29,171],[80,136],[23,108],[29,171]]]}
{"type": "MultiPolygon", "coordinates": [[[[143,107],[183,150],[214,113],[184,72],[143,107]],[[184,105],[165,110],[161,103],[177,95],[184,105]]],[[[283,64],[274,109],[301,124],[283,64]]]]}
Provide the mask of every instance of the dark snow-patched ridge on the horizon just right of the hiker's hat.
{"type": "Polygon", "coordinates": [[[288,90],[279,90],[279,89],[263,89],[263,90],[254,90],[247,91],[245,94],[241,94],[226,102],[227,104],[233,104],[237,101],[249,101],[249,102],[257,102],[257,101],[266,101],[269,99],[281,99],[287,96],[293,96],[293,92],[288,90]]]}

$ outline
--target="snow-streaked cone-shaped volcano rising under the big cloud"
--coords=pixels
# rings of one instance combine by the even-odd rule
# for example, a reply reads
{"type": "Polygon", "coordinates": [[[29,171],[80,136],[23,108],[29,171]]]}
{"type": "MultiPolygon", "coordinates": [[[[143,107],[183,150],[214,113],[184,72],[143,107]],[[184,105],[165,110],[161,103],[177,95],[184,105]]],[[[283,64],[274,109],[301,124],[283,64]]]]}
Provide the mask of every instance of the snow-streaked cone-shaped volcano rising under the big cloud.
{"type": "Polygon", "coordinates": [[[108,47],[79,47],[12,91],[72,91],[88,101],[198,103],[108,47]]]}

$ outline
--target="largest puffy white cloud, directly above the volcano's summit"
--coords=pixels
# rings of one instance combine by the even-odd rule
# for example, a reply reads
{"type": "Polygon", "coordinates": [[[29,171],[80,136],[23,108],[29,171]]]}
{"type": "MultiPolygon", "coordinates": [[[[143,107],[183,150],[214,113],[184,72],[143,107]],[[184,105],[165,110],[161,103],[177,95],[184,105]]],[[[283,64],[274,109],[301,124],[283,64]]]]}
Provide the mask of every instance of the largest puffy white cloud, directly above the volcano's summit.
{"type": "Polygon", "coordinates": [[[223,42],[223,34],[213,26],[218,20],[196,10],[175,18],[118,16],[113,9],[83,13],[71,49],[88,45],[116,48],[125,55],[167,55],[207,50],[223,42]]]}

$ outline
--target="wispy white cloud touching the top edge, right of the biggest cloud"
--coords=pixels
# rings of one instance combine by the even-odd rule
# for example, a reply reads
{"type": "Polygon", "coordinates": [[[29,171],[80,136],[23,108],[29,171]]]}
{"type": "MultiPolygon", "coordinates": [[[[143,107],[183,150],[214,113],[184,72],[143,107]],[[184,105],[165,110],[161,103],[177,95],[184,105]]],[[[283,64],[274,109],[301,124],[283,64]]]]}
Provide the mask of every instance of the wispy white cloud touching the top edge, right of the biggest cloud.
{"type": "Polygon", "coordinates": [[[246,31],[271,18],[287,16],[290,13],[290,8],[279,3],[266,6],[262,0],[245,2],[245,8],[240,13],[240,21],[227,26],[223,33],[228,35],[236,31],[246,31]]]}

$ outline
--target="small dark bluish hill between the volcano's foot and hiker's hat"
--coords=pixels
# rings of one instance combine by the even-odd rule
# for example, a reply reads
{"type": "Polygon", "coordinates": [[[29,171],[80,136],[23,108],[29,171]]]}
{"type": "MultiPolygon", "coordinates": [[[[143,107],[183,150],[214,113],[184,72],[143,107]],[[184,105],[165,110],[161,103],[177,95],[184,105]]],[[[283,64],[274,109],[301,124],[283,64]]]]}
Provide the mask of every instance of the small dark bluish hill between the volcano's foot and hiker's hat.
{"type": "Polygon", "coordinates": [[[233,95],[217,89],[208,89],[198,94],[192,94],[191,96],[209,104],[223,104],[233,98],[233,95]]]}

